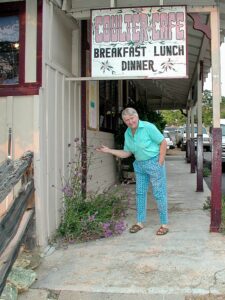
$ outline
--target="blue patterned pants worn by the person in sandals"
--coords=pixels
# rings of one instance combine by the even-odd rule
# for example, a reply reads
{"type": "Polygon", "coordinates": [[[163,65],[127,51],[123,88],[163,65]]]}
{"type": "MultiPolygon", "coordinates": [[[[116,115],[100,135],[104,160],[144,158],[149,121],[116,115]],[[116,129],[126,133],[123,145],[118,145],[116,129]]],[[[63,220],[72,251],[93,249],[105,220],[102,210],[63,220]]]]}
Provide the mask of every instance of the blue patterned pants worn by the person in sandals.
{"type": "Polygon", "coordinates": [[[134,161],[136,175],[136,206],[137,222],[146,221],[147,193],[149,184],[152,185],[152,193],[157,203],[161,224],[168,223],[167,211],[167,183],[165,163],[160,166],[159,156],[148,160],[134,161]]]}

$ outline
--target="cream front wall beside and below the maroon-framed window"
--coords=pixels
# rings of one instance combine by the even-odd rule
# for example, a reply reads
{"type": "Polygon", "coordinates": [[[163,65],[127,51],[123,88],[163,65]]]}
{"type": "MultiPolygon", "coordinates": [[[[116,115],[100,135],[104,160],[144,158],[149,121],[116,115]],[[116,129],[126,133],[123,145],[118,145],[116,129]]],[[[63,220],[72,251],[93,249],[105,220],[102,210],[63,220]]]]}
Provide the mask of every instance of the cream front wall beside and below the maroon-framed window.
{"type": "MultiPolygon", "coordinates": [[[[12,2],[12,1],[5,1],[12,2]]],[[[37,1],[26,2],[25,82],[36,81],[36,36],[37,36],[37,1]]],[[[11,156],[20,157],[27,150],[35,150],[34,140],[37,128],[34,120],[37,96],[0,97],[0,163],[8,156],[9,128],[12,129],[11,156]]]]}

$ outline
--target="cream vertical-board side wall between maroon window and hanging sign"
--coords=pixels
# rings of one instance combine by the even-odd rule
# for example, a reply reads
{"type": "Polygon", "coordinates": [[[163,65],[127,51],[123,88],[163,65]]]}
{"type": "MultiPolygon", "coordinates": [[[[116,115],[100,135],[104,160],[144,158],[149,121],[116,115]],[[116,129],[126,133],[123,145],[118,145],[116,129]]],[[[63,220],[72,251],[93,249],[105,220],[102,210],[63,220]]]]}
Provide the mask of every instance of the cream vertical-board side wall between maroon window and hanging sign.
{"type": "Polygon", "coordinates": [[[79,32],[79,27],[51,2],[44,1],[43,28],[40,151],[35,161],[37,233],[42,246],[59,225],[62,178],[67,175],[66,165],[74,149],[68,145],[80,137],[80,84],[66,81],[73,76],[73,32],[79,32]]]}

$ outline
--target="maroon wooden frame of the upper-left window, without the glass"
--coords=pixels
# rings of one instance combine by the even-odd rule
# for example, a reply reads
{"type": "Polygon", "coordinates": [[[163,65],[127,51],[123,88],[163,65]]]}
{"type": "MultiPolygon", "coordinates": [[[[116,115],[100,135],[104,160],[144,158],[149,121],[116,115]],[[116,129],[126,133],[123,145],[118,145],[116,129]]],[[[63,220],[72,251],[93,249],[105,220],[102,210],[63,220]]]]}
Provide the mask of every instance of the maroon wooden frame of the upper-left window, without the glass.
{"type": "Polygon", "coordinates": [[[37,1],[37,69],[36,81],[25,82],[25,42],[26,42],[26,2],[18,1],[0,4],[0,17],[19,17],[19,82],[17,84],[0,84],[1,96],[38,95],[42,82],[42,1],[37,1]]]}

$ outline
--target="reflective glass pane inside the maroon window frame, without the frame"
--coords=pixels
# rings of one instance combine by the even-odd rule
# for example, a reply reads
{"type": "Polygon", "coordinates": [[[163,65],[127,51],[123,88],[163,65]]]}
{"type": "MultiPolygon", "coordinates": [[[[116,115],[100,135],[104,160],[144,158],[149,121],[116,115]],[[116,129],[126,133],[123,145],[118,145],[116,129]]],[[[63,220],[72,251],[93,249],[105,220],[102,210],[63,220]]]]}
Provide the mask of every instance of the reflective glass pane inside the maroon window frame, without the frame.
{"type": "Polygon", "coordinates": [[[0,84],[19,83],[19,17],[0,17],[0,84]]]}

